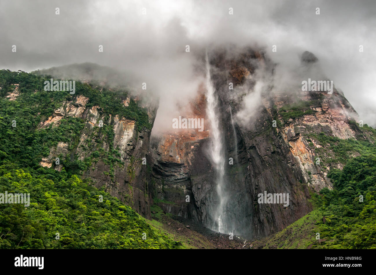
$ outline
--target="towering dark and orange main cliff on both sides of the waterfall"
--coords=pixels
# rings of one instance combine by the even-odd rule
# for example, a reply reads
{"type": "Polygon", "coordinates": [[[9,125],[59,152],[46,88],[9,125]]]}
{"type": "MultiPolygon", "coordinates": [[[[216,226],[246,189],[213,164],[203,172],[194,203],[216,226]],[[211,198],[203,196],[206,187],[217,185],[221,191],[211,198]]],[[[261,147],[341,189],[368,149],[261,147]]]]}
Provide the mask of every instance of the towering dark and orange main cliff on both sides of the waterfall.
{"type": "MultiPolygon", "coordinates": [[[[303,56],[304,66],[317,62],[313,57],[307,58],[303,56]]],[[[330,154],[315,153],[315,148],[320,147],[315,135],[355,138],[356,132],[349,120],[356,112],[336,89],[332,94],[300,89],[283,95],[270,89],[262,96],[257,113],[244,125],[235,116],[243,108],[244,97],[254,93],[255,71],[263,67],[273,75],[274,65],[262,53],[252,50],[236,56],[217,51],[211,54],[210,64],[211,80],[220,102],[218,116],[227,159],[225,189],[229,198],[226,205],[227,216],[231,217],[229,223],[235,228],[234,234],[250,238],[267,236],[312,210],[310,192],[331,188],[327,171],[333,165],[341,168],[342,164],[323,162],[330,154]],[[229,83],[233,83],[234,90],[247,89],[244,94],[235,95],[229,90],[229,83]],[[290,113],[294,111],[296,114],[290,113]],[[258,194],[264,191],[288,193],[289,206],[259,204],[258,194]]],[[[193,105],[196,108],[182,111],[182,116],[202,116],[206,122],[204,132],[180,129],[156,137],[151,146],[152,173],[157,186],[157,204],[162,209],[211,228],[219,198],[215,171],[208,158],[212,132],[205,116],[205,96],[201,95],[193,105]]]]}

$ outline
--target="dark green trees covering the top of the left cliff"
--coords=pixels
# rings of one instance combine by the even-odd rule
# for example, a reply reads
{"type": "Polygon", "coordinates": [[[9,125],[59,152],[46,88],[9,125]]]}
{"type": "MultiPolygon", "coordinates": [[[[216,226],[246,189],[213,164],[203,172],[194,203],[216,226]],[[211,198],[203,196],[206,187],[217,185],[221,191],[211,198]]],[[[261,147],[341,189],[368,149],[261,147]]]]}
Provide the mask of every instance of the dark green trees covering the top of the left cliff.
{"type": "MultiPolygon", "coordinates": [[[[40,76],[26,72],[12,72],[9,70],[0,70],[0,96],[4,98],[6,93],[12,92],[15,86],[20,84],[16,106],[11,102],[12,107],[21,108],[23,111],[35,116],[35,119],[41,121],[51,116],[54,111],[61,107],[62,102],[73,100],[74,97],[83,95],[89,98],[87,107],[99,106],[103,114],[111,114],[126,119],[135,120],[138,130],[152,129],[149,123],[149,116],[144,108],[141,108],[134,100],[129,101],[127,107],[124,106],[124,100],[129,93],[124,89],[107,89],[105,87],[91,86],[87,83],[76,81],[76,92],[70,95],[67,91],[44,91],[44,81],[50,81],[50,76],[40,76]]],[[[54,79],[56,80],[56,79],[54,79]]],[[[9,100],[7,100],[9,102],[9,100]]],[[[4,106],[2,106],[4,107],[4,106]]],[[[30,126],[35,126],[30,125],[30,126]]]]}

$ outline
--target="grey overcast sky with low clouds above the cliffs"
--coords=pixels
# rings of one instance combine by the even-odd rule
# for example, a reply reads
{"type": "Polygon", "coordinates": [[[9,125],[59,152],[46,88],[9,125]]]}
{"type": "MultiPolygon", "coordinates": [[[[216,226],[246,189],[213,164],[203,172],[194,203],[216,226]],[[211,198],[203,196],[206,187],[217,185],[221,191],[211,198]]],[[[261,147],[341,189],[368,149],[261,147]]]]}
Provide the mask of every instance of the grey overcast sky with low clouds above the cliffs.
{"type": "Polygon", "coordinates": [[[360,119],[376,126],[375,14],[372,0],[2,0],[0,69],[29,72],[98,63],[132,72],[173,104],[174,97],[197,90],[202,79],[195,73],[193,56],[206,45],[256,43],[289,68],[308,50],[360,119]],[[190,53],[185,53],[187,44],[190,53]],[[12,45],[17,47],[15,53],[12,45]],[[271,51],[273,45],[276,53],[271,51]],[[364,47],[362,53],[359,45],[364,47]]]}

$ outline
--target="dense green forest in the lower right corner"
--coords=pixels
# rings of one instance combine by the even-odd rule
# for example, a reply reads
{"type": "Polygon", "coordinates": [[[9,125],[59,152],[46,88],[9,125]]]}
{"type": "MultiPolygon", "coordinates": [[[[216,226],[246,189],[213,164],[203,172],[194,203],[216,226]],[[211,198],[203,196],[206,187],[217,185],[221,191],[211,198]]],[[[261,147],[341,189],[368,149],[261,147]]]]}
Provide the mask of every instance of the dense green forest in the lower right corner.
{"type": "Polygon", "coordinates": [[[332,169],[334,189],[323,188],[317,196],[326,219],[317,222],[318,231],[330,240],[323,248],[376,249],[376,147],[367,151],[343,170],[332,169]]]}

